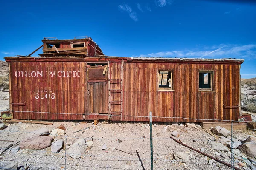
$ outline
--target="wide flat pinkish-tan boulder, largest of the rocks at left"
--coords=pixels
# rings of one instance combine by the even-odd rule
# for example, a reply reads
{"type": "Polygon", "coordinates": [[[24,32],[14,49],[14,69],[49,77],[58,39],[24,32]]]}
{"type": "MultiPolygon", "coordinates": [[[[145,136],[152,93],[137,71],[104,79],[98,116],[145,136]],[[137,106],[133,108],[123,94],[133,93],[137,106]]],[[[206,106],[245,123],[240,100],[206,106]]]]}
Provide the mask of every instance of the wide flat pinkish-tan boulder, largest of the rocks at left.
{"type": "Polygon", "coordinates": [[[20,142],[20,149],[44,149],[51,146],[51,136],[32,136],[20,142]]]}

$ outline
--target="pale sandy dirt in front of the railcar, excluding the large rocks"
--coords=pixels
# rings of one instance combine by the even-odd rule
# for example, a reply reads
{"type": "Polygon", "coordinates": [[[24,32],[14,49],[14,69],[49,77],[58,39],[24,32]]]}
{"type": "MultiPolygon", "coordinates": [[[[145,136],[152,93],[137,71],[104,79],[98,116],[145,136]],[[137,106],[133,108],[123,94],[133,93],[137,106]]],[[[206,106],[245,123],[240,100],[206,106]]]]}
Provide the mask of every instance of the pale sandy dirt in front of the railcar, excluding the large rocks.
{"type": "MultiPolygon", "coordinates": [[[[74,131],[85,127],[93,126],[93,123],[79,122],[53,122],[53,125],[38,125],[30,123],[7,124],[7,128],[0,131],[0,140],[13,140],[14,142],[0,142],[0,148],[4,148],[9,144],[14,144],[28,135],[29,132],[40,128],[53,130],[63,124],[67,130],[63,136],[58,139],[64,139],[64,150],[60,153],[51,153],[51,148],[44,150],[19,150],[18,153],[12,153],[7,150],[2,156],[1,161],[5,163],[18,162],[19,166],[28,167],[29,170],[41,168],[41,170],[63,170],[65,161],[67,170],[91,170],[91,169],[143,169],[136,150],[142,159],[145,169],[150,169],[150,140],[149,127],[144,123],[111,123],[103,124],[100,122],[93,128],[82,130],[77,133],[74,131]],[[67,136],[67,137],[66,137],[67,136]],[[73,159],[65,156],[65,148],[67,145],[73,144],[79,138],[91,139],[93,137],[93,147],[87,150],[80,159],[73,159]],[[118,141],[121,140],[121,141],[118,141]],[[102,150],[103,144],[107,149],[102,150]],[[123,153],[116,149],[123,150],[123,153]]],[[[181,133],[180,139],[191,147],[201,150],[204,148],[205,153],[218,159],[230,163],[230,152],[222,152],[209,148],[209,142],[215,138],[203,129],[189,128],[185,126],[173,126],[158,124],[153,126],[153,150],[154,150],[154,169],[165,170],[215,170],[229,169],[218,162],[209,161],[210,159],[184,147],[170,139],[171,131],[177,130],[181,133]],[[158,134],[157,134],[158,133],[158,134]],[[157,136],[158,135],[158,136],[157,136]],[[193,142],[195,140],[195,142],[193,142]],[[188,153],[190,156],[188,163],[179,163],[173,158],[175,152],[188,153]],[[220,156],[216,155],[218,152],[220,156]]],[[[238,139],[246,139],[247,135],[253,135],[252,131],[235,132],[238,139]]],[[[254,134],[255,135],[255,134],[254,134]]],[[[250,170],[250,169],[248,169],[250,170]]]]}

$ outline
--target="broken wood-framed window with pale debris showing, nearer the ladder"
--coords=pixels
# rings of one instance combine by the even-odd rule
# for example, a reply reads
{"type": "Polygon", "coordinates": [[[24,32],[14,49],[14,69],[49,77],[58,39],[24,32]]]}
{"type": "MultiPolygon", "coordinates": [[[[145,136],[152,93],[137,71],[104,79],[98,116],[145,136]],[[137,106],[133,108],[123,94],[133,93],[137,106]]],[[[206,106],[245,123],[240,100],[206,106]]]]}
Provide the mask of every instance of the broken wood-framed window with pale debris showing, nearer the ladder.
{"type": "Polygon", "coordinates": [[[158,71],[158,90],[171,91],[172,88],[172,71],[158,71]]]}

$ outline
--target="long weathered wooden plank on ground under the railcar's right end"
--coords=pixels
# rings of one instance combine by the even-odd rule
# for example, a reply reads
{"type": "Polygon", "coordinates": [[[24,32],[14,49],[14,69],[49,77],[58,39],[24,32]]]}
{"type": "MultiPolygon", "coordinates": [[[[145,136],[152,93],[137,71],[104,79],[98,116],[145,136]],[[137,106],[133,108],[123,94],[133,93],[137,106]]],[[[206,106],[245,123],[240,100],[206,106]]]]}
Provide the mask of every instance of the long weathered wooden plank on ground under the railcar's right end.
{"type": "MultiPolygon", "coordinates": [[[[203,129],[210,129],[211,127],[224,127],[227,130],[231,130],[231,123],[214,123],[214,122],[203,122],[203,129]]],[[[246,123],[233,123],[233,130],[246,130],[246,123]]]]}

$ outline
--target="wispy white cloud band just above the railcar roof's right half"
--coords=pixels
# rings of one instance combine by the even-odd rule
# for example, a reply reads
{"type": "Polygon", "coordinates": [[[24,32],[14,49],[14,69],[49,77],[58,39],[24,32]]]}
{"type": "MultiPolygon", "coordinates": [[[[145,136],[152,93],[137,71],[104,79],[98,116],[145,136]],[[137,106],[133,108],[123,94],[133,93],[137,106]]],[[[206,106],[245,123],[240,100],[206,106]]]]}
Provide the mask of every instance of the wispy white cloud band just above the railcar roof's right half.
{"type": "Polygon", "coordinates": [[[185,49],[183,51],[160,51],[157,53],[141,54],[133,57],[204,57],[204,58],[247,58],[256,59],[256,44],[248,45],[214,45],[209,48],[185,49]],[[212,50],[206,50],[212,49],[212,50]]]}

